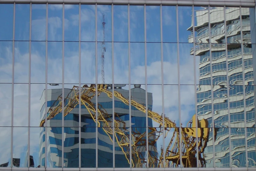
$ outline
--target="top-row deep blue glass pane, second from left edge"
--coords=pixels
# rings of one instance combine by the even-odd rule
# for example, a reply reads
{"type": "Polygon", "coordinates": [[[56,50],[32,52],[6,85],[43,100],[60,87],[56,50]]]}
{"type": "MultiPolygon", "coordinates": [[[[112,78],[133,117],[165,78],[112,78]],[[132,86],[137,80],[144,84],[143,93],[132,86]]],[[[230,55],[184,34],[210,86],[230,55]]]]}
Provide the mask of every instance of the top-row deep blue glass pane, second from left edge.
{"type": "Polygon", "coordinates": [[[15,40],[29,40],[30,4],[15,4],[15,40]]]}

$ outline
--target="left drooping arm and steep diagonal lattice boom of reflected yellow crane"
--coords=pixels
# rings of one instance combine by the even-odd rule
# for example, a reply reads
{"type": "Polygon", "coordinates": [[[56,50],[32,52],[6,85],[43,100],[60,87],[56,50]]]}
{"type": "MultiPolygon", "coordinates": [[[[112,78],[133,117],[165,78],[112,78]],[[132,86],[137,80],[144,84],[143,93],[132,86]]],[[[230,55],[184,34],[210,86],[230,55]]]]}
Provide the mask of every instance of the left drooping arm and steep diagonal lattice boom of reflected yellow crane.
{"type": "MultiPolygon", "coordinates": [[[[65,98],[65,106],[64,106],[64,117],[71,112],[78,104],[79,104],[79,90],[77,89],[78,87],[74,86],[72,91],[68,94],[68,96],[65,98]]],[[[82,88],[82,93],[81,95],[81,104],[83,104],[86,109],[88,110],[89,114],[91,115],[92,119],[96,122],[96,106],[91,102],[91,99],[95,96],[95,88],[82,88]],[[91,96],[90,96],[91,95],[91,96]]],[[[53,118],[56,116],[58,113],[62,111],[62,97],[59,96],[58,100],[56,100],[53,104],[53,108],[49,109],[49,116],[48,119],[53,118]]],[[[98,104],[99,105],[99,104],[98,104]]],[[[117,116],[118,117],[118,116],[117,116]]],[[[126,156],[126,159],[128,163],[130,163],[130,149],[129,149],[129,135],[126,135],[124,132],[128,132],[125,128],[125,122],[123,122],[121,119],[114,120],[114,133],[113,129],[110,124],[112,124],[113,120],[112,118],[107,114],[104,108],[102,108],[101,105],[98,107],[98,122],[97,126],[99,127],[100,124],[102,125],[103,131],[109,136],[111,141],[113,142],[113,139],[111,136],[115,136],[115,139],[117,141],[118,146],[122,149],[123,153],[126,156]],[[108,120],[106,120],[106,118],[108,120]],[[120,125],[120,123],[122,123],[120,125]],[[123,125],[123,126],[122,126],[123,125]],[[121,130],[122,129],[122,130],[121,130]],[[126,150],[124,150],[126,148],[126,150]]],[[[43,126],[45,123],[45,120],[42,120],[40,123],[40,126],[43,126]]],[[[133,136],[133,135],[132,135],[133,136]]],[[[133,140],[137,140],[137,138],[132,138],[133,140]]],[[[140,139],[140,138],[139,138],[140,139]]],[[[138,141],[138,140],[137,140],[138,141]]],[[[137,149],[137,146],[135,146],[136,142],[133,143],[132,145],[132,150],[133,150],[133,158],[136,159],[137,167],[140,167],[141,159],[140,155],[137,149]]],[[[134,162],[132,161],[132,165],[134,166],[134,162]]]]}

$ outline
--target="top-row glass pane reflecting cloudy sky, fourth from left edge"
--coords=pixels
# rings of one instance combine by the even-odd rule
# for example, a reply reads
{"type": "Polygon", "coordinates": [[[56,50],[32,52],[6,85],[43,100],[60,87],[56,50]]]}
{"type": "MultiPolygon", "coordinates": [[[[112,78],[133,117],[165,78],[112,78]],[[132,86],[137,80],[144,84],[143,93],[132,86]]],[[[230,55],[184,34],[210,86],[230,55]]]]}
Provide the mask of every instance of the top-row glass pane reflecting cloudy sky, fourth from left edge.
{"type": "Polygon", "coordinates": [[[62,41],[63,4],[48,5],[48,41],[62,41]]]}

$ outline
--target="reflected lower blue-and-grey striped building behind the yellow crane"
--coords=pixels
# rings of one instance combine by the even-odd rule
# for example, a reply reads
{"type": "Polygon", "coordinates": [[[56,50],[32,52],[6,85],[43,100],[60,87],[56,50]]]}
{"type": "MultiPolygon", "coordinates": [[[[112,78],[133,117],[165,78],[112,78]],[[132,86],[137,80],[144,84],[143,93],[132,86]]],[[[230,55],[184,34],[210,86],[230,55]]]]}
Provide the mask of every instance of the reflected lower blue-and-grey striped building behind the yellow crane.
{"type": "MultiPolygon", "coordinates": [[[[126,99],[129,98],[129,90],[125,90],[122,87],[125,85],[117,85],[115,91],[121,93],[126,99]]],[[[108,89],[112,92],[112,88],[108,89]]],[[[72,89],[64,88],[64,98],[72,89]]],[[[43,93],[44,94],[44,93],[43,93]]],[[[47,90],[47,109],[51,106],[56,106],[59,102],[59,97],[62,97],[62,89],[48,89],[47,90]]],[[[131,89],[132,99],[136,99],[141,104],[146,103],[145,90],[140,86],[131,89]]],[[[148,93],[148,108],[152,109],[152,93],[148,93]]],[[[45,100],[45,98],[41,98],[45,100]]],[[[60,100],[61,101],[61,100],[60,100]]],[[[91,100],[96,104],[95,97],[91,100]]],[[[42,102],[43,103],[43,102],[42,102]]],[[[129,105],[126,105],[120,99],[115,98],[115,119],[122,120],[123,125],[120,127],[129,127],[129,105]],[[117,117],[118,115],[118,117],[117,117]]],[[[107,94],[100,93],[98,96],[98,108],[104,110],[109,116],[112,117],[113,102],[112,98],[109,98],[107,94]]],[[[44,116],[45,106],[41,109],[41,117],[44,116]]],[[[49,112],[48,112],[49,115],[49,112]]],[[[107,120],[108,118],[106,118],[107,120]]],[[[51,167],[62,167],[62,113],[58,113],[55,117],[47,120],[47,164],[51,167]]],[[[136,131],[138,134],[146,132],[146,117],[145,113],[139,111],[134,106],[131,106],[131,127],[132,131],[136,131]]],[[[149,127],[153,126],[152,119],[148,119],[149,127]]],[[[100,121],[100,127],[98,127],[98,136],[96,137],[96,123],[90,116],[88,109],[81,105],[81,167],[96,167],[96,138],[98,139],[98,167],[113,167],[113,135],[109,136],[106,133],[106,129],[103,128],[104,122],[100,121]]],[[[112,129],[112,128],[111,128],[112,129]]],[[[122,129],[124,134],[129,137],[129,128],[122,129]]],[[[41,129],[41,135],[45,134],[45,128],[41,129]]],[[[64,117],[64,166],[63,167],[79,167],[79,105],[75,106],[68,115],[64,117]]],[[[118,135],[117,135],[118,137],[118,135]]],[[[142,137],[146,139],[146,137],[142,137]]],[[[45,158],[42,154],[45,153],[44,148],[45,139],[41,138],[41,152],[40,159],[41,165],[45,165],[45,158]]],[[[146,148],[141,148],[141,156],[145,156],[146,148]]],[[[152,154],[157,155],[154,151],[157,149],[157,144],[154,148],[151,148],[152,154]]],[[[129,162],[122,150],[118,146],[117,140],[115,140],[115,167],[130,167],[129,162]]],[[[134,159],[133,159],[134,160],[134,159]]]]}

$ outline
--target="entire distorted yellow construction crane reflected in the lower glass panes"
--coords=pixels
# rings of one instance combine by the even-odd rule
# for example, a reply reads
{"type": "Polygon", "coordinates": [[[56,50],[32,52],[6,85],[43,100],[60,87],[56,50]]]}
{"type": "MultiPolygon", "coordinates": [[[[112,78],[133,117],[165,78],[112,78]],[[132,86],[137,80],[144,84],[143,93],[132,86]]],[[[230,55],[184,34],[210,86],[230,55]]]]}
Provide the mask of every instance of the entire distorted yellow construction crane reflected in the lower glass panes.
{"type": "MultiPolygon", "coordinates": [[[[96,105],[91,102],[93,97],[96,95],[96,85],[84,85],[83,87],[74,86],[70,93],[64,97],[64,106],[62,104],[62,95],[53,103],[53,105],[48,110],[47,119],[52,119],[58,113],[62,112],[63,106],[63,116],[65,117],[69,114],[77,105],[79,105],[79,89],[81,91],[81,105],[84,105],[88,110],[90,116],[96,123],[96,105]]],[[[129,102],[120,92],[114,91],[114,94],[108,90],[108,86],[104,84],[99,84],[97,86],[98,96],[101,93],[107,94],[109,98],[113,96],[121,100],[124,104],[132,106],[146,114],[146,107],[133,99],[129,102]]],[[[110,116],[107,111],[98,104],[97,109],[97,126],[101,127],[103,131],[109,136],[113,142],[113,136],[121,148],[122,152],[125,154],[126,160],[130,163],[130,141],[129,141],[129,128],[126,127],[126,123],[114,113],[114,117],[110,116]],[[113,121],[114,119],[114,121],[113,121]],[[114,132],[112,125],[114,124],[114,132]]],[[[199,155],[199,167],[205,167],[204,159],[204,148],[207,146],[209,139],[209,128],[208,121],[205,119],[198,120],[194,115],[191,121],[187,124],[186,128],[178,128],[176,124],[171,121],[168,117],[159,115],[156,112],[147,110],[148,118],[158,123],[160,126],[157,128],[148,128],[148,147],[146,149],[146,132],[141,133],[136,130],[136,128],[131,128],[131,154],[132,154],[132,167],[145,167],[146,159],[142,155],[142,151],[147,151],[148,153],[148,163],[149,167],[197,167],[197,145],[198,140],[198,155],[199,155]],[[164,120],[164,122],[163,122],[164,120]],[[198,122],[198,138],[196,136],[196,122],[198,122]],[[163,130],[164,128],[164,130],[163,130]],[[180,131],[181,129],[181,131],[180,131]],[[171,140],[168,143],[166,149],[161,149],[161,153],[157,153],[156,142],[161,135],[167,137],[168,132],[172,132],[171,140]],[[180,137],[181,136],[181,137],[180,137]],[[181,140],[181,141],[180,141],[181,140]],[[181,146],[181,148],[180,148],[181,146]],[[181,149],[181,150],[180,150],[181,149]],[[165,162],[164,161],[165,158],[165,162]],[[181,158],[181,162],[180,162],[181,158]],[[165,164],[164,164],[165,163],[165,164]]],[[[43,127],[45,124],[45,119],[40,123],[43,127]]]]}

